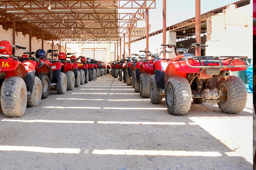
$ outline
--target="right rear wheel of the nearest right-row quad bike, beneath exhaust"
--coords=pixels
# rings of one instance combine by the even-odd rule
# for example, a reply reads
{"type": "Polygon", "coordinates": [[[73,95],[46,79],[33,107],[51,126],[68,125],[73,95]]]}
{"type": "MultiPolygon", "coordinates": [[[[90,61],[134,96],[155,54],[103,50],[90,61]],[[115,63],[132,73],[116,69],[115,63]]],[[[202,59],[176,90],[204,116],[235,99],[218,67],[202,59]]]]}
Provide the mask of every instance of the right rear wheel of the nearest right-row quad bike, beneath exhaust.
{"type": "Polygon", "coordinates": [[[244,82],[236,76],[229,76],[226,80],[219,81],[218,90],[226,96],[220,96],[218,106],[220,110],[228,114],[241,112],[247,101],[247,91],[244,82]]]}

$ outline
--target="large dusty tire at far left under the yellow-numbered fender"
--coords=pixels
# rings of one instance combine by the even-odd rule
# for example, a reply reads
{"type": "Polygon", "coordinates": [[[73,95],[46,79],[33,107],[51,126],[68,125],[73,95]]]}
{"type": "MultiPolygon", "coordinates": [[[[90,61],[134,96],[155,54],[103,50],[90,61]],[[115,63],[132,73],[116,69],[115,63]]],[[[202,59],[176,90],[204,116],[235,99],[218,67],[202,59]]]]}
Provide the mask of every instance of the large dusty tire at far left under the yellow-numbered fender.
{"type": "Polygon", "coordinates": [[[27,87],[20,77],[9,77],[1,86],[1,108],[7,117],[21,117],[27,106],[27,87]]]}

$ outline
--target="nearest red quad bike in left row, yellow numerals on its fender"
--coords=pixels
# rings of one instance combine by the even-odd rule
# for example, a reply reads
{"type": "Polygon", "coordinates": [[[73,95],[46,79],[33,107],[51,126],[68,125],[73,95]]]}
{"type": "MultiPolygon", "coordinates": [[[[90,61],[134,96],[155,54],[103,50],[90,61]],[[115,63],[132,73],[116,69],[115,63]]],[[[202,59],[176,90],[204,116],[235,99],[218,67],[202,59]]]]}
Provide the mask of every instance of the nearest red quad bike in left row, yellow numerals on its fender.
{"type": "Polygon", "coordinates": [[[1,108],[5,116],[21,117],[26,106],[37,106],[41,101],[42,83],[35,76],[34,61],[22,63],[14,57],[16,49],[26,49],[19,44],[0,41],[1,108]]]}

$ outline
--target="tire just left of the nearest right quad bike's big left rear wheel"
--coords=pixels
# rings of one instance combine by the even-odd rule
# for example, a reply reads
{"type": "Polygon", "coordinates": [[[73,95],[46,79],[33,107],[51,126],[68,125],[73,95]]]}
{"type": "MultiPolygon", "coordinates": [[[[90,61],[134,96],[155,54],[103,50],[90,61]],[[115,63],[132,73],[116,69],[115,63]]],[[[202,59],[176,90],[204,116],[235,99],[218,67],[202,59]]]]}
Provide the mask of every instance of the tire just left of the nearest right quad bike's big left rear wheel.
{"type": "Polygon", "coordinates": [[[162,102],[162,99],[163,99],[163,96],[162,95],[159,95],[158,94],[158,91],[157,91],[157,85],[156,85],[156,76],[155,74],[153,74],[151,77],[150,77],[150,85],[149,85],[149,88],[150,88],[150,101],[151,103],[153,104],[159,104],[162,102]]]}

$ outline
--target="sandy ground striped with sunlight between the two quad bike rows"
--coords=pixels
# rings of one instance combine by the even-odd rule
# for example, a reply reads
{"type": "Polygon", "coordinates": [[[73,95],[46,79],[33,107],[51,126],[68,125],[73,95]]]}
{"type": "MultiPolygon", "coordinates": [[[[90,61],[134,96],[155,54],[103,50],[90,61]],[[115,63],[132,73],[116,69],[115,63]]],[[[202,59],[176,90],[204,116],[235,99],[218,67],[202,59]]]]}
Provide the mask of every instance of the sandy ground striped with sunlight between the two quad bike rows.
{"type": "Polygon", "coordinates": [[[236,115],[192,103],[173,116],[104,75],[21,118],[0,114],[0,132],[1,170],[252,169],[252,95],[236,115]]]}

